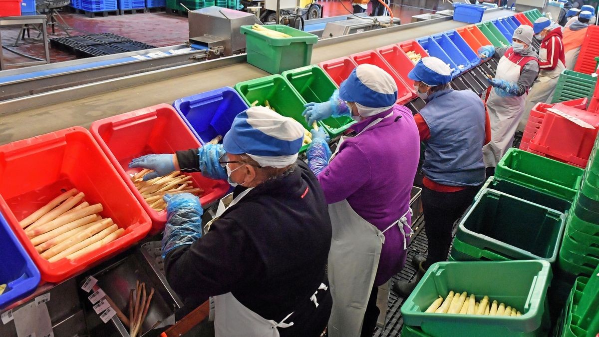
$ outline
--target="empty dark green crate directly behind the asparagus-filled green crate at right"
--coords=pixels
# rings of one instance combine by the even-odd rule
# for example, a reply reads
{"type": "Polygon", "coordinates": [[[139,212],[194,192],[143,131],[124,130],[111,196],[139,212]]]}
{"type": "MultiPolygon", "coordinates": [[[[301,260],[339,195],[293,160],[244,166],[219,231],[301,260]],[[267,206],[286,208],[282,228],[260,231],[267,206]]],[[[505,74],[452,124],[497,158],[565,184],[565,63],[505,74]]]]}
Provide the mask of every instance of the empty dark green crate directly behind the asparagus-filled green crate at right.
{"type": "Polygon", "coordinates": [[[456,238],[510,260],[556,261],[565,215],[485,189],[458,224],[456,238]]]}

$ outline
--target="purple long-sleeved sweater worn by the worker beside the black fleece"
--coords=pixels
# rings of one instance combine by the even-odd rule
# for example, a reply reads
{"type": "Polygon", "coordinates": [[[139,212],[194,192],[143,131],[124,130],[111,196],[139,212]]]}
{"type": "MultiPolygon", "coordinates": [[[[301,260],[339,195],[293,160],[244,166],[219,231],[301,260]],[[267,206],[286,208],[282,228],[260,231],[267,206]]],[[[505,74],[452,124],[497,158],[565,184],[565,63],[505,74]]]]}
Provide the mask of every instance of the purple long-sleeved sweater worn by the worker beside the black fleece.
{"type": "MultiPolygon", "coordinates": [[[[420,158],[418,127],[412,112],[399,105],[352,126],[359,133],[389,112],[393,112],[391,117],[344,140],[334,160],[318,175],[327,203],[347,199],[358,215],[381,231],[409,208],[420,158]]],[[[411,223],[409,213],[407,218],[411,223]]],[[[397,225],[385,232],[375,286],[384,284],[403,268],[403,244],[397,225]]]]}

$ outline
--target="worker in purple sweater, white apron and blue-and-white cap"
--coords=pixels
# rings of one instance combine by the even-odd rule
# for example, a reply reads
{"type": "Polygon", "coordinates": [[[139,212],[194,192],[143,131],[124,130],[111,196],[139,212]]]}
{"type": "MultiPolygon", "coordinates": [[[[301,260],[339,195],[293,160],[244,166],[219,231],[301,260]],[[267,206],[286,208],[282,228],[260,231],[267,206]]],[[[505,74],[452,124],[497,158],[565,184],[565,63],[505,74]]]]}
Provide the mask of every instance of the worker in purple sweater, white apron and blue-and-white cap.
{"type": "Polygon", "coordinates": [[[406,263],[410,192],[418,160],[418,128],[409,109],[396,105],[397,85],[375,65],[356,67],[325,103],[308,103],[311,125],[352,116],[354,136],[341,137],[331,155],[322,128],[312,131],[308,164],[316,174],[333,227],[328,275],[331,337],[372,336],[378,287],[406,263]]]}

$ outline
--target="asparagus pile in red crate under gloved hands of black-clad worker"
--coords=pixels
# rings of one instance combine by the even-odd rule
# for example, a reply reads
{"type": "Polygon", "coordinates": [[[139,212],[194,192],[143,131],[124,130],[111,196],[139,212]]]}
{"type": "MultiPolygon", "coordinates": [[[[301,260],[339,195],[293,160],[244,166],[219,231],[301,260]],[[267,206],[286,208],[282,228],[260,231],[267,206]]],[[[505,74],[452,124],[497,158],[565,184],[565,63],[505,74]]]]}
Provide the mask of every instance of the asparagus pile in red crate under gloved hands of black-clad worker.
{"type": "Polygon", "coordinates": [[[181,174],[180,171],[173,171],[171,174],[162,177],[156,177],[147,181],[143,177],[152,172],[152,170],[143,169],[131,177],[135,188],[140,191],[146,203],[156,210],[161,212],[167,207],[162,197],[165,194],[191,193],[193,195],[201,195],[204,190],[194,188],[191,181],[191,176],[181,174]]]}

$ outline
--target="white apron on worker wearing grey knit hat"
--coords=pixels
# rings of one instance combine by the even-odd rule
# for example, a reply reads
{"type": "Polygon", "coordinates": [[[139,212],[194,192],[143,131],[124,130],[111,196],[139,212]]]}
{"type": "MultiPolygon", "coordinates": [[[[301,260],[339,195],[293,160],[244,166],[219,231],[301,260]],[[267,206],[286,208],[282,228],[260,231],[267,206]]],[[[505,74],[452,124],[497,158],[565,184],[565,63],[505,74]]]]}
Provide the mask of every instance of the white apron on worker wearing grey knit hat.
{"type": "MultiPolygon", "coordinates": [[[[521,56],[524,58],[525,56],[521,56]]],[[[518,82],[521,66],[517,62],[510,61],[505,55],[499,60],[495,79],[518,82]]],[[[489,121],[491,122],[491,142],[483,146],[483,160],[485,167],[497,167],[507,150],[512,147],[514,134],[518,127],[518,121],[524,111],[526,94],[522,96],[500,96],[491,89],[487,107],[489,109],[489,121]]]]}

